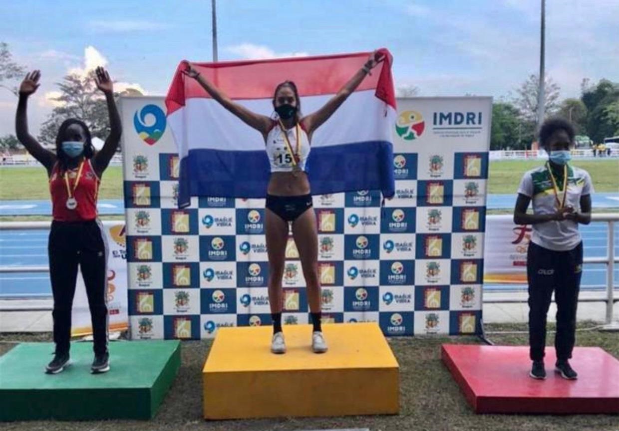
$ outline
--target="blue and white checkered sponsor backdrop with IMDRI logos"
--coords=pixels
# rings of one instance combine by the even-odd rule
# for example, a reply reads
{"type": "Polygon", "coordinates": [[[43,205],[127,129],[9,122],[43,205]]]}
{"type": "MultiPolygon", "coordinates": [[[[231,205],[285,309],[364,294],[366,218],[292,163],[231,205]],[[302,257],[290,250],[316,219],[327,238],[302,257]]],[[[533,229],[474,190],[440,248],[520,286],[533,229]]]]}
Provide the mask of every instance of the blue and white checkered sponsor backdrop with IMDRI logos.
{"type": "MultiPolygon", "coordinates": [[[[264,200],[177,206],[179,159],[163,98],[121,98],[133,338],[209,338],[269,325],[264,200]]],[[[479,333],[491,98],[398,101],[396,196],[316,195],[324,321],[385,335],[479,333]]],[[[207,139],[207,137],[205,137],[207,139]]],[[[284,322],[308,323],[292,237],[284,322]]]]}

